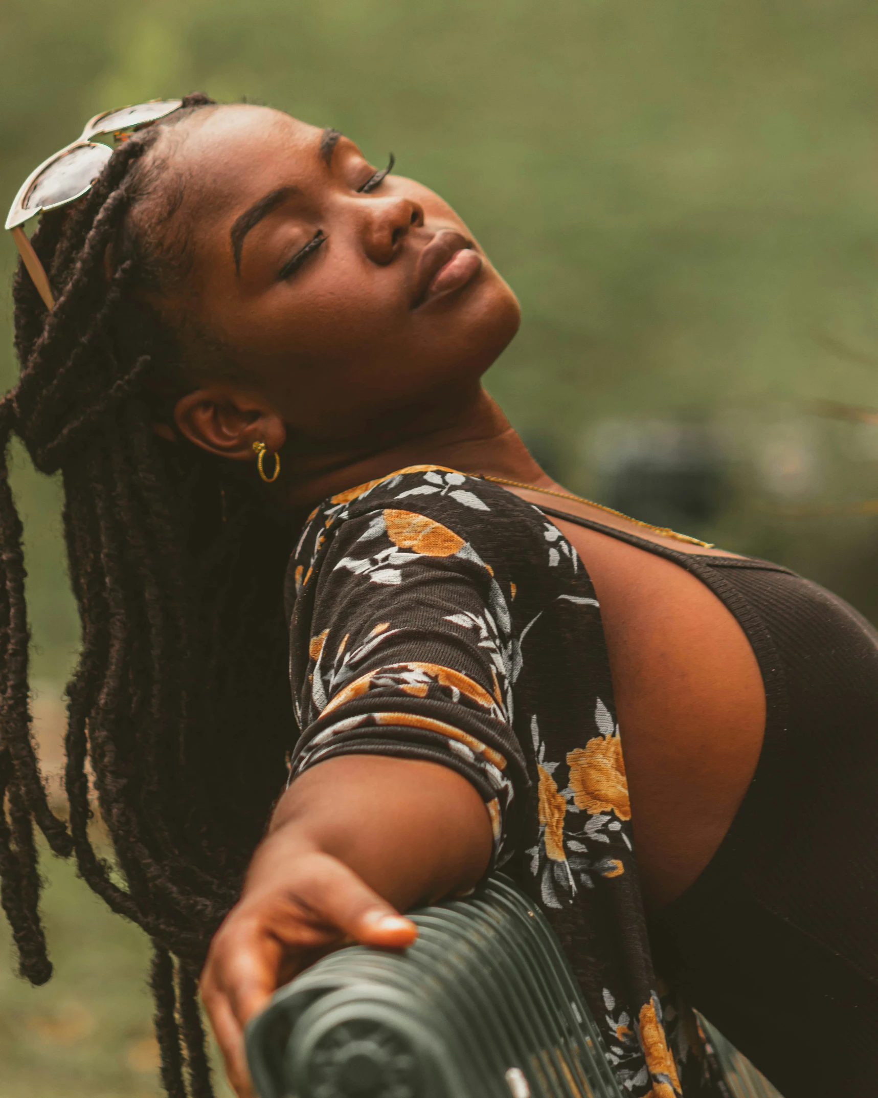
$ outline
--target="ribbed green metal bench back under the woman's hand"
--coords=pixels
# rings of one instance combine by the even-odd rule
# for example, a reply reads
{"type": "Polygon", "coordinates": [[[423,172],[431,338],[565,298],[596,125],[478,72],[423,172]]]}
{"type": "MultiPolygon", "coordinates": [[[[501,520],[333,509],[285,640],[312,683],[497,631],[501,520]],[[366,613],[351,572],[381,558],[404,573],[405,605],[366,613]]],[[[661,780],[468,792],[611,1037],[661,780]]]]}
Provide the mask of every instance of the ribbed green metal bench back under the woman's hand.
{"type": "Polygon", "coordinates": [[[260,1098],[623,1098],[549,923],[510,881],[339,950],[247,1028],[260,1098]]]}

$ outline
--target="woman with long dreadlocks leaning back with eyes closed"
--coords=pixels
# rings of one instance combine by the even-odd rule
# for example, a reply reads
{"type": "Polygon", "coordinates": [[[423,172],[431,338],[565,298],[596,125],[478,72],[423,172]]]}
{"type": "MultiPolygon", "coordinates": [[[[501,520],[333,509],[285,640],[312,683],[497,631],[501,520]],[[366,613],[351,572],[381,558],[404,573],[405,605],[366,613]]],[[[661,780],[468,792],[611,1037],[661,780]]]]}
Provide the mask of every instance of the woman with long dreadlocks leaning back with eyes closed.
{"type": "Polygon", "coordinates": [[[0,424],[63,473],[82,656],[68,825],[30,740],[3,475],[22,972],[50,974],[36,822],[154,940],[168,1093],[210,1094],[201,972],[246,1096],[241,1030],[281,982],[345,935],[405,946],[397,912],[503,865],[628,1093],[724,1093],[688,1000],[787,1098],[873,1094],[870,627],[554,484],[480,384],[514,294],[441,199],[335,131],[190,97],[33,247],[54,307],[20,269],[0,424]]]}

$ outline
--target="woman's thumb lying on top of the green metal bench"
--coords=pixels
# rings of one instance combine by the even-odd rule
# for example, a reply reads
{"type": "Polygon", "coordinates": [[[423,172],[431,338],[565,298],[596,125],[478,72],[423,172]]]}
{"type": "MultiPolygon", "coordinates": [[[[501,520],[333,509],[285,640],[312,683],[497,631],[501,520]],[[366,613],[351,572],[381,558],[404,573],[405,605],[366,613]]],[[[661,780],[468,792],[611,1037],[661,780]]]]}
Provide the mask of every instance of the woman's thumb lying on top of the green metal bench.
{"type": "Polygon", "coordinates": [[[296,899],[325,923],[364,945],[404,949],[415,941],[415,923],[344,862],[328,854],[312,854],[309,862],[309,872],[297,883],[296,899]]]}

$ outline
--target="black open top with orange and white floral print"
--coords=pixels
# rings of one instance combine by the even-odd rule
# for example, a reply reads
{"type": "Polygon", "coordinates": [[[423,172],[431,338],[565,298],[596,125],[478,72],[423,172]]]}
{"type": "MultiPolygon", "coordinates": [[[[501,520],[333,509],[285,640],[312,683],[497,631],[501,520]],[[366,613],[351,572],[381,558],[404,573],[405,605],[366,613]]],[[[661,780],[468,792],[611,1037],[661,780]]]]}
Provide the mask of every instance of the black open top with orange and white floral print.
{"type": "Polygon", "coordinates": [[[691,1027],[663,1013],[600,612],[559,528],[498,485],[415,466],[317,507],[286,598],[291,777],[356,752],[463,774],[492,867],[552,922],[624,1091],[713,1094],[691,1027]]]}

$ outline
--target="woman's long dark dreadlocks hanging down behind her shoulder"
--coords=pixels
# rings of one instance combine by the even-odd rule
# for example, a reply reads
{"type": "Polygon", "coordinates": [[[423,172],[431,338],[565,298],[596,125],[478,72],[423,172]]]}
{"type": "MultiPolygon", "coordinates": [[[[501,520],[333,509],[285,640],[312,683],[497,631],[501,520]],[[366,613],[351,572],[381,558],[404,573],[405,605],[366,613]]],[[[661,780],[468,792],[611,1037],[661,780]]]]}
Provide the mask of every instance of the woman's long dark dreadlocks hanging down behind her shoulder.
{"type": "Polygon", "coordinates": [[[87,197],[43,217],[32,243],[57,303],[47,312],[19,265],[21,377],[0,402],[0,898],[21,974],[44,983],[38,828],[150,935],[171,1098],[213,1094],[196,977],[283,786],[292,727],[288,531],[238,479],[223,478],[221,461],[157,435],[148,388],[185,356],[138,291],[167,289],[187,249],[162,250],[162,234],[132,229],[130,215],[162,193],[166,216],[173,211],[184,181],[175,198],[173,172],[147,154],[167,127],[211,105],[189,96],[120,145],[87,197]],[[64,484],[81,620],[67,686],[66,820],[48,803],[31,732],[22,526],[5,457],[13,433],[64,484]],[[92,786],[115,865],[90,839],[92,786]]]}

